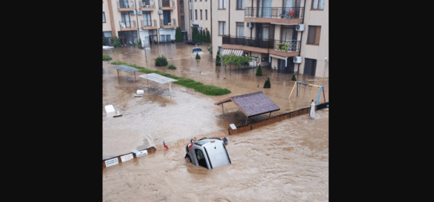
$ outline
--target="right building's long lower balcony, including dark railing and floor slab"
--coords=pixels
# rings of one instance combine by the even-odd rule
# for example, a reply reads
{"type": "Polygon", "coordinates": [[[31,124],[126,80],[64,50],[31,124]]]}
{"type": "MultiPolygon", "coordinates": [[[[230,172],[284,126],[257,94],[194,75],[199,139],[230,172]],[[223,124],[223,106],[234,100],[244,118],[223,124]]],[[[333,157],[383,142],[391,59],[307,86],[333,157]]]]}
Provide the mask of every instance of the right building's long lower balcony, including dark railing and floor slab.
{"type": "Polygon", "coordinates": [[[245,51],[260,52],[264,54],[275,54],[278,56],[292,57],[299,56],[299,40],[263,40],[259,38],[223,36],[223,48],[244,49],[245,51]]]}

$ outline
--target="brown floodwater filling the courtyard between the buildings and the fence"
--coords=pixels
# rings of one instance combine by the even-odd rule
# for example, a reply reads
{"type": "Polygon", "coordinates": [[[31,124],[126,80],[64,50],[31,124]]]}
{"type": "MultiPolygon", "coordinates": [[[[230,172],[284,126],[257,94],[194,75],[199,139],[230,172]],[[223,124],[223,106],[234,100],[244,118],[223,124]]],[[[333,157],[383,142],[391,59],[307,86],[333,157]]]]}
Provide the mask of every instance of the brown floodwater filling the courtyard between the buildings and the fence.
{"type": "MultiPolygon", "coordinates": [[[[103,160],[110,157],[130,153],[131,150],[142,150],[162,144],[163,139],[174,142],[178,139],[188,139],[218,131],[227,131],[230,123],[244,125],[246,116],[239,111],[232,102],[214,105],[224,98],[264,92],[273,100],[280,111],[271,113],[271,116],[310,107],[310,100],[317,100],[317,93],[312,88],[302,86],[299,98],[296,91],[288,100],[294,86],[291,81],[292,74],[272,72],[262,69],[262,77],[256,77],[255,69],[237,70],[236,65],[216,66],[215,60],[207,50],[209,45],[184,45],[182,43],[167,43],[153,45],[150,49],[137,49],[135,47],[120,47],[103,49],[112,57],[112,61],[124,61],[151,70],[168,72],[179,77],[188,77],[195,81],[227,88],[232,93],[220,96],[203,95],[192,88],[172,84],[158,84],[147,81],[139,75],[142,72],[118,72],[111,68],[112,61],[103,61],[103,160]],[[192,54],[193,47],[201,47],[201,59],[196,60],[192,54]],[[155,66],[156,57],[164,55],[169,63],[177,69],[168,70],[165,67],[155,66]],[[271,88],[262,88],[264,81],[270,77],[271,88]],[[142,98],[135,98],[137,90],[144,90],[142,98]],[[170,96],[172,91],[172,97],[170,96]],[[312,97],[312,99],[310,99],[312,97]],[[112,104],[116,111],[123,114],[120,117],[107,116],[105,105],[112,104]]],[[[328,100],[328,79],[306,77],[299,75],[299,81],[324,86],[325,96],[328,100]]],[[[316,90],[316,89],[315,89],[316,90]]],[[[320,103],[324,102],[321,93],[320,103]]],[[[248,118],[248,123],[254,123],[268,118],[269,114],[248,118]]]]}

